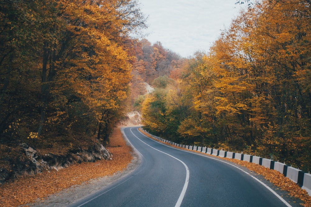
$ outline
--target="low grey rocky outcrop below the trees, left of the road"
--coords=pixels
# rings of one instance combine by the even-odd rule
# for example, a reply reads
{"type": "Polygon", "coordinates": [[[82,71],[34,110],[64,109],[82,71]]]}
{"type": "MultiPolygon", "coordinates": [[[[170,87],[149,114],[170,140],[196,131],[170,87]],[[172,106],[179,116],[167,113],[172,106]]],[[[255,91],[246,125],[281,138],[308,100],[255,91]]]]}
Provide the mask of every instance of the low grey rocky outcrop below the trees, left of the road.
{"type": "Polygon", "coordinates": [[[19,175],[33,175],[44,170],[60,170],[71,164],[82,162],[95,162],[95,160],[109,160],[112,155],[99,142],[95,142],[88,150],[81,148],[68,151],[66,155],[53,155],[51,153],[40,155],[38,151],[25,143],[21,144],[21,156],[15,160],[5,160],[10,167],[0,167],[0,183],[14,179],[19,175]]]}

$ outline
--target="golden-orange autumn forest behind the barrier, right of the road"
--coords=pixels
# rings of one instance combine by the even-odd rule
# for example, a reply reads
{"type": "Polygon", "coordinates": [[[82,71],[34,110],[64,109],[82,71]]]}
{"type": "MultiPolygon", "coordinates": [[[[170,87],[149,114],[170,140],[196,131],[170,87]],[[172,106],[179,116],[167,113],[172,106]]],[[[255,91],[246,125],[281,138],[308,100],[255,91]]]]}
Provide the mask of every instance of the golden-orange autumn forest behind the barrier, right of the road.
{"type": "Polygon", "coordinates": [[[264,0],[180,75],[155,79],[146,128],[182,144],[244,151],[311,169],[311,4],[264,0]]]}

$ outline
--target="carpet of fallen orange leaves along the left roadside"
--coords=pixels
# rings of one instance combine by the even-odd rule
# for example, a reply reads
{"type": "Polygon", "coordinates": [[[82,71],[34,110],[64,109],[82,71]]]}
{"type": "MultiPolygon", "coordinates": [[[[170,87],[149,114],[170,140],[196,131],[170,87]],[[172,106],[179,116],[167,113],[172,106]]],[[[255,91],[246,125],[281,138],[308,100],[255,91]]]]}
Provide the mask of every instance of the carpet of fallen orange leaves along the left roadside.
{"type": "Polygon", "coordinates": [[[27,204],[37,198],[78,185],[90,179],[113,175],[125,169],[132,160],[131,147],[126,145],[120,128],[115,128],[107,149],[112,160],[98,160],[94,163],[74,164],[68,168],[36,175],[22,176],[14,182],[0,185],[0,206],[12,207],[27,204]]]}

